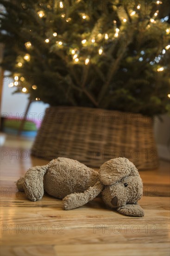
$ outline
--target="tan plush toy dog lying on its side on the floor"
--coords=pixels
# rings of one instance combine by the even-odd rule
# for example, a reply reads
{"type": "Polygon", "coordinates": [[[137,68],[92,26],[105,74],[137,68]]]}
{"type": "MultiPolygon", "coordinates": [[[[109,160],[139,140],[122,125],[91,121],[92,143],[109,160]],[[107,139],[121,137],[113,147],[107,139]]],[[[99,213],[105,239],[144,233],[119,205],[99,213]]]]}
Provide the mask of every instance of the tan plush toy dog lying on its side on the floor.
{"type": "Polygon", "coordinates": [[[121,214],[144,216],[137,203],[143,194],[142,180],[127,158],[111,159],[97,172],[76,160],[58,157],[28,169],[17,187],[31,201],[41,200],[45,190],[63,199],[66,210],[80,207],[101,193],[103,201],[121,214]]]}

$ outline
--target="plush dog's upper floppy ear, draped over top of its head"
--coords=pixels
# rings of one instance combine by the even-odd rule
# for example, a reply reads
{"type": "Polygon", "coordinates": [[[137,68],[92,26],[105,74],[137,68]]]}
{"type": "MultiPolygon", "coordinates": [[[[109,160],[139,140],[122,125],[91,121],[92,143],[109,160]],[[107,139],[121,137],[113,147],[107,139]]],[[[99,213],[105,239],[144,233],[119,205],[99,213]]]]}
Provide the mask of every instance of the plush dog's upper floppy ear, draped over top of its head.
{"type": "Polygon", "coordinates": [[[110,159],[101,165],[99,178],[104,185],[112,185],[125,176],[139,175],[137,168],[125,157],[110,159]]]}

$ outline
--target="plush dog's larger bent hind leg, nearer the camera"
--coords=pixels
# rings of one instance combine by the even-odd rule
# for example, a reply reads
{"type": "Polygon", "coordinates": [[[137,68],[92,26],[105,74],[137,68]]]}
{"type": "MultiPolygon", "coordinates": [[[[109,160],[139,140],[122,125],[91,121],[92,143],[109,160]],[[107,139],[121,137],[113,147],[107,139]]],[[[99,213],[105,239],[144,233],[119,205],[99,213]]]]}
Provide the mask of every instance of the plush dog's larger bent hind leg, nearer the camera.
{"type": "Polygon", "coordinates": [[[43,178],[49,165],[30,168],[24,177],[25,194],[31,201],[39,201],[44,195],[43,178]]]}

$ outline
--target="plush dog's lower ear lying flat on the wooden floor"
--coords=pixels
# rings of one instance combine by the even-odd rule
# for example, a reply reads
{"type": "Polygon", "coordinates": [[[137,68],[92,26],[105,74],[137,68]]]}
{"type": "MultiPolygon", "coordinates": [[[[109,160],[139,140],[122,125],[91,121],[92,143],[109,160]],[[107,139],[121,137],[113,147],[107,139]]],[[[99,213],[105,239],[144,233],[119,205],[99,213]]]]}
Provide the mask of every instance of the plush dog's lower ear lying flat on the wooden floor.
{"type": "Polygon", "coordinates": [[[145,212],[139,204],[126,204],[126,206],[119,207],[117,211],[127,216],[143,217],[145,212]]]}

